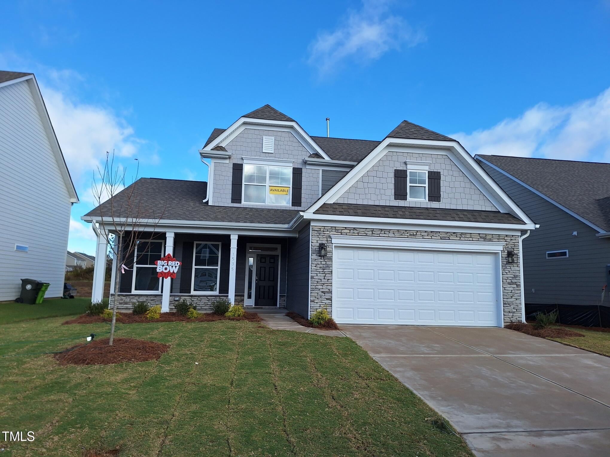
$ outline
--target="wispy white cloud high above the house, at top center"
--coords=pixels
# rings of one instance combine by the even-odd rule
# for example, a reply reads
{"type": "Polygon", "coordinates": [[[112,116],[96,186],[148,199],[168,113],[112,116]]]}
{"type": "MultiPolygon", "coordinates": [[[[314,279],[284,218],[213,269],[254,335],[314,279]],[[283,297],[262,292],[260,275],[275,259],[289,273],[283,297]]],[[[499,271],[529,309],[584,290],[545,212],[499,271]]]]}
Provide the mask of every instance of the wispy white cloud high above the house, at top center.
{"type": "Polygon", "coordinates": [[[425,40],[400,16],[392,15],[386,0],[363,0],[360,10],[350,10],[337,29],[320,32],[309,45],[307,62],[320,76],[336,71],[346,60],[364,64],[377,60],[401,45],[425,40]]]}

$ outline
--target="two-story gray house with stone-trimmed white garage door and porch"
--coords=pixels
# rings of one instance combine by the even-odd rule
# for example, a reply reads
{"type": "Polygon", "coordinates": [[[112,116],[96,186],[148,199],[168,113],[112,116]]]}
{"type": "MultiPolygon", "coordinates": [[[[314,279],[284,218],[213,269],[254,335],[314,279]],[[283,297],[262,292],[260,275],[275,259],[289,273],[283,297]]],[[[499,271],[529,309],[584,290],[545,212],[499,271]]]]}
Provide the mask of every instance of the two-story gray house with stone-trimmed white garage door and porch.
{"type": "MultiPolygon", "coordinates": [[[[534,224],[457,141],[407,121],[382,141],[310,136],[265,105],[214,129],[199,154],[207,183],[132,184],[133,204],[160,221],[124,261],[121,309],[228,297],[306,317],[324,308],[339,323],[522,321],[520,238],[534,224]],[[182,266],[161,281],[166,253],[182,266]]],[[[131,191],[82,219],[111,231],[110,208],[120,218],[131,191]]]]}

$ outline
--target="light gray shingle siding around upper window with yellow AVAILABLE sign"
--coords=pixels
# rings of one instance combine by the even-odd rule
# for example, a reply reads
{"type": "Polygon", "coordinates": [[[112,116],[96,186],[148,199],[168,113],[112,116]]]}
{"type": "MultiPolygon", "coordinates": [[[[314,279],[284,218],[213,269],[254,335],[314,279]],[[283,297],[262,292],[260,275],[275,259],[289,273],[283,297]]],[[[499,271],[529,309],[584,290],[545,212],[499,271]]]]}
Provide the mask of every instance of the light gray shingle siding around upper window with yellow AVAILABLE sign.
{"type": "Polygon", "coordinates": [[[291,132],[244,129],[227,144],[226,149],[232,154],[229,163],[217,162],[213,166],[212,206],[304,210],[318,199],[320,194],[320,171],[304,168],[303,159],[309,156],[309,151],[291,132]],[[273,136],[275,138],[273,154],[262,152],[263,136],[273,136]],[[293,167],[303,168],[302,205],[300,207],[288,207],[231,203],[232,164],[235,162],[241,163],[242,157],[293,160],[293,167]]]}

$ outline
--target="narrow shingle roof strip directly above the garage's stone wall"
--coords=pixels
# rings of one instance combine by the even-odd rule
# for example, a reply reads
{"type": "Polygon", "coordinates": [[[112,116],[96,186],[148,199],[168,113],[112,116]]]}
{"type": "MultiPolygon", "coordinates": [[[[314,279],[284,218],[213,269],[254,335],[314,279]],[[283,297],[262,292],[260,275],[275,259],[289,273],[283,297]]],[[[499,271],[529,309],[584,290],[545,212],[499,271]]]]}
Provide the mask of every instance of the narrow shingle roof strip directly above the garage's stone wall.
{"type": "Polygon", "coordinates": [[[446,210],[437,208],[380,205],[324,204],[315,214],[362,216],[367,218],[425,219],[434,221],[487,222],[490,224],[525,224],[521,219],[500,211],[446,210]]]}

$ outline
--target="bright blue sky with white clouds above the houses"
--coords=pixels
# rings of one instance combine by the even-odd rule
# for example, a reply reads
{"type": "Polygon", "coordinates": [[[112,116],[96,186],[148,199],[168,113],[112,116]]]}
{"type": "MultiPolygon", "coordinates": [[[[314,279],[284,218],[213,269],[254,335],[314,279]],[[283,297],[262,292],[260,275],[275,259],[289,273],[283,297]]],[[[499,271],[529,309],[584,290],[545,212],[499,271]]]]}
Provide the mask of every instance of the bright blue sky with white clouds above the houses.
{"type": "Polygon", "coordinates": [[[403,119],[472,154],[610,161],[610,0],[3,2],[0,69],[37,76],[81,197],[106,151],[128,175],[205,180],[213,127],[266,103],[311,135],[403,119]]]}

